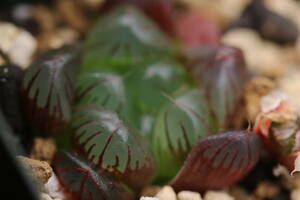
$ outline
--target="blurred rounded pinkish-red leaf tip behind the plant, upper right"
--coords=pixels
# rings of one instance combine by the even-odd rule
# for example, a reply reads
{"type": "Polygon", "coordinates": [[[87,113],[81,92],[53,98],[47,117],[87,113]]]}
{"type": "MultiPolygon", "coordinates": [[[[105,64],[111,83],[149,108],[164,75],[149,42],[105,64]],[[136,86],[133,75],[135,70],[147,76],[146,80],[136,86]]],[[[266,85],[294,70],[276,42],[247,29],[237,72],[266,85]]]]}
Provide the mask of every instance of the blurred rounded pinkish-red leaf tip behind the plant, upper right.
{"type": "Polygon", "coordinates": [[[203,44],[216,45],[220,40],[220,30],[217,24],[197,12],[178,15],[175,27],[176,36],[187,47],[203,44]]]}

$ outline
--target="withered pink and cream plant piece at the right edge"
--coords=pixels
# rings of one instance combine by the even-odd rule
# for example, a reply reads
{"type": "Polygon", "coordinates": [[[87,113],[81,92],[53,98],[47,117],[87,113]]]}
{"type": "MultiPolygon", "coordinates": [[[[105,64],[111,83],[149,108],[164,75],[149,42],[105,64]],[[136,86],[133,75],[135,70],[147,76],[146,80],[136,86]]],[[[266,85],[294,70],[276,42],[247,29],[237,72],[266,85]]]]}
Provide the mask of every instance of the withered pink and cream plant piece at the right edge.
{"type": "Polygon", "coordinates": [[[273,91],[262,98],[261,113],[253,128],[264,147],[291,172],[299,171],[300,152],[297,109],[287,96],[273,91]]]}

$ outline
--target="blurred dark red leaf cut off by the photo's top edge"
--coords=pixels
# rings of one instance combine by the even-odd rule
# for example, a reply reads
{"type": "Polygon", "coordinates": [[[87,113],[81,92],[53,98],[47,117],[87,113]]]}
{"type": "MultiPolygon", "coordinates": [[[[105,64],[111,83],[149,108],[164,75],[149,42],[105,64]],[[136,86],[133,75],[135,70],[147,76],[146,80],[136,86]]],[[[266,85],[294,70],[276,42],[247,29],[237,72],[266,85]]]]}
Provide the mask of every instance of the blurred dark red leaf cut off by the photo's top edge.
{"type": "Polygon", "coordinates": [[[174,17],[172,1],[170,0],[106,0],[103,9],[111,8],[121,4],[133,4],[142,9],[148,17],[155,21],[159,27],[174,36],[174,17]]]}

